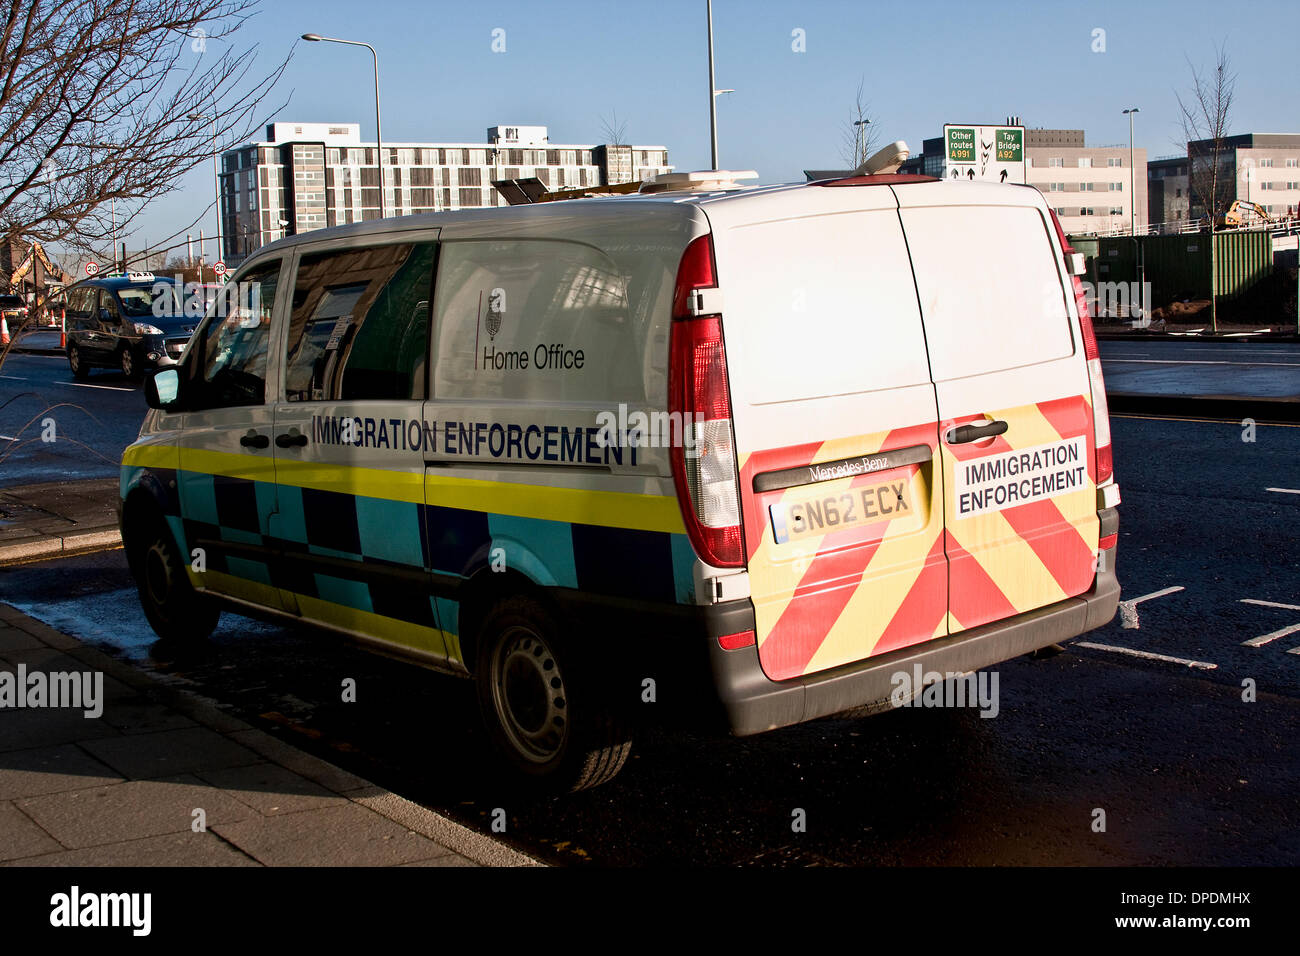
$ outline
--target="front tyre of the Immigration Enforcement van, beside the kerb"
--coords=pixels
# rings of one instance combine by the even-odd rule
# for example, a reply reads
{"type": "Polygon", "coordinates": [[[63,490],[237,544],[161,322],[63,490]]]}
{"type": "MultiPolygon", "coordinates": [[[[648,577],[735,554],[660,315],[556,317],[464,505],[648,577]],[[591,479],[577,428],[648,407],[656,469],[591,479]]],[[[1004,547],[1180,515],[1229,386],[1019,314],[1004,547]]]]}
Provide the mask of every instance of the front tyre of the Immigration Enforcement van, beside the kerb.
{"type": "Polygon", "coordinates": [[[207,640],[217,627],[221,609],[190,584],[162,515],[153,512],[140,519],[139,527],[126,536],[126,554],[153,632],[178,644],[207,640]]]}

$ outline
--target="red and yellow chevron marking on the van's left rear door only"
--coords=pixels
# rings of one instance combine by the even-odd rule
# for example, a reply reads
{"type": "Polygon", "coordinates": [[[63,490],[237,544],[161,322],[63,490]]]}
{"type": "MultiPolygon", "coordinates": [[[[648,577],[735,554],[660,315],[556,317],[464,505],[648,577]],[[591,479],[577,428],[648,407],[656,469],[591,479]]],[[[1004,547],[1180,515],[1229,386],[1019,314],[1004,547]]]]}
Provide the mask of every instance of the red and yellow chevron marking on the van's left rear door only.
{"type": "Polygon", "coordinates": [[[948,598],[942,502],[935,483],[937,429],[930,423],[775,449],[754,453],[742,463],[741,481],[748,490],[757,473],[909,445],[930,445],[935,459],[874,475],[749,493],[745,540],[759,661],[774,680],[868,657],[885,637],[905,646],[944,632],[948,598]],[[768,518],[771,505],[890,481],[906,483],[911,503],[907,514],[776,544],[768,518]]]}

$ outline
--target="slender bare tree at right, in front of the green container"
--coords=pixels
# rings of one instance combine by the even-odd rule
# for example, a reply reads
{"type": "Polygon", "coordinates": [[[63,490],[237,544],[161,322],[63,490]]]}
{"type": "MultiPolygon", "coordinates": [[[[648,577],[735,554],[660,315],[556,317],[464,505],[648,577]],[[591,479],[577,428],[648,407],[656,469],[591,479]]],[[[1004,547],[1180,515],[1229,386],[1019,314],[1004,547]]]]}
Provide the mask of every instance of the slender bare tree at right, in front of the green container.
{"type": "Polygon", "coordinates": [[[1210,329],[1218,332],[1218,295],[1214,278],[1218,274],[1218,250],[1214,226],[1232,200],[1235,182],[1225,176],[1222,157],[1227,153],[1228,125],[1232,114],[1232,95],[1236,74],[1228,64],[1227,49],[1219,44],[1214,69],[1206,74],[1188,59],[1192,87],[1178,95],[1182,113],[1183,138],[1187,140],[1187,186],[1191,206],[1199,207],[1209,220],[1210,232],[1210,329]]]}

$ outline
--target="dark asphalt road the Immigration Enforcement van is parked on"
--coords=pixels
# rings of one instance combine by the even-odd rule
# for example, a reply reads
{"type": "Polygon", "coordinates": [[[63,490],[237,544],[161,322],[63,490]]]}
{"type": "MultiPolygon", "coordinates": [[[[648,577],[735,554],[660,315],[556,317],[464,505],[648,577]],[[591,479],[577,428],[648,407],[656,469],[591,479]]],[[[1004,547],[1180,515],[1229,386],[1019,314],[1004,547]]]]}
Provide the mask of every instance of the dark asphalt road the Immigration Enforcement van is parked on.
{"type": "Polygon", "coordinates": [[[616,780],[564,799],[493,782],[462,682],[229,614],[209,649],[177,657],[152,640],[120,551],[0,570],[0,597],[471,826],[502,808],[506,839],[556,862],[1295,865],[1300,428],[1260,425],[1253,442],[1232,423],[1113,429],[1124,598],[1180,588],[1136,604],[1138,627],[1117,617],[1065,653],[1002,665],[992,719],[905,709],[744,740],[651,731],[616,780]]]}

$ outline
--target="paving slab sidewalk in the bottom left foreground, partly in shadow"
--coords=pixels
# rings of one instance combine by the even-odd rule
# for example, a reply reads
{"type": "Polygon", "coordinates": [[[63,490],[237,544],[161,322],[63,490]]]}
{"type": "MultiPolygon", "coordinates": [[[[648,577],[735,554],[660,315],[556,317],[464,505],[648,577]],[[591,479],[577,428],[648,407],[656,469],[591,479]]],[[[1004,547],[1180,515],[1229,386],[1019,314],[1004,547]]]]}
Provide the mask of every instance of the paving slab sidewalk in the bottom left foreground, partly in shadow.
{"type": "Polygon", "coordinates": [[[0,604],[20,667],[103,713],[0,709],[0,866],[542,865],[0,604]]]}

